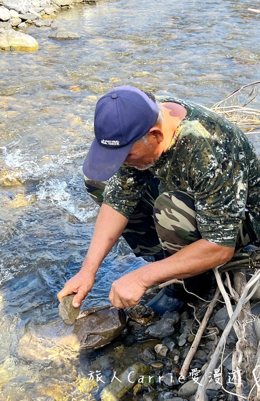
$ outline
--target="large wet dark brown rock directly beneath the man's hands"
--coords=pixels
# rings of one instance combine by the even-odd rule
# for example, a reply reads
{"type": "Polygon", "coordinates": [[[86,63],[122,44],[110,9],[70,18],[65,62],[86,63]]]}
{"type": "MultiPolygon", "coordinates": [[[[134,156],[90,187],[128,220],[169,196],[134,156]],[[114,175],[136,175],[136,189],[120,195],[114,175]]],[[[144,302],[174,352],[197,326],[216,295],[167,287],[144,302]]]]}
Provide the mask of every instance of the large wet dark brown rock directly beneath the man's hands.
{"type": "Polygon", "coordinates": [[[74,334],[81,348],[100,348],[116,338],[125,328],[126,314],[123,309],[104,309],[77,319],[74,334]]]}

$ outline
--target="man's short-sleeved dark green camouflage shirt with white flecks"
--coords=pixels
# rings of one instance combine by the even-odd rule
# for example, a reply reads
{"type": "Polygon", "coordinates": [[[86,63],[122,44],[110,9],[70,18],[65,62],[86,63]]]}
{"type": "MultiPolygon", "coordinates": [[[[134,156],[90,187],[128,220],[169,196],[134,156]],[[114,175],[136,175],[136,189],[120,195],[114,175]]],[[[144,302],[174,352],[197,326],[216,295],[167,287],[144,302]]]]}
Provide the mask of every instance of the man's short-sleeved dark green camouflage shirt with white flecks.
{"type": "Polygon", "coordinates": [[[110,178],[104,203],[130,218],[144,195],[150,171],[159,191],[180,190],[195,199],[201,237],[234,246],[245,211],[260,238],[260,159],[240,128],[206,107],[174,98],[187,110],[159,160],[140,171],[123,164],[110,178]]]}

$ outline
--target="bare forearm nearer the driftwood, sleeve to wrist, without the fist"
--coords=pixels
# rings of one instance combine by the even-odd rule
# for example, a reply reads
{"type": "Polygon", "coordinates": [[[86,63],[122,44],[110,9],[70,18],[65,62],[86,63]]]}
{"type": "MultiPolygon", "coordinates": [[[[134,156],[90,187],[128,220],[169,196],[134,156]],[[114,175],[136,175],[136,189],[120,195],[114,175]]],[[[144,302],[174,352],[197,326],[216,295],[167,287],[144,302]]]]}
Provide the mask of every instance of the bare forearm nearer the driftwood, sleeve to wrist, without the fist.
{"type": "Polygon", "coordinates": [[[139,280],[145,287],[171,279],[184,279],[204,273],[232,258],[234,248],[198,240],[168,258],[138,269],[139,280]]]}

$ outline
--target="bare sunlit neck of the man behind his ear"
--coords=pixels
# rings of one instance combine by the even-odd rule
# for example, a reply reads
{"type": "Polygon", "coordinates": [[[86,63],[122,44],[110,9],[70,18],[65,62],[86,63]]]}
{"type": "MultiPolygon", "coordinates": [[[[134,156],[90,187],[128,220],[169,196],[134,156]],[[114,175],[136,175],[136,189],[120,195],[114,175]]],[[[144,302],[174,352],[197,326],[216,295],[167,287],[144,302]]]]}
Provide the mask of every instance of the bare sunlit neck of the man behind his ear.
{"type": "Polygon", "coordinates": [[[161,103],[163,111],[162,132],[164,134],[164,152],[170,146],[172,138],[175,134],[180,122],[186,117],[187,110],[185,107],[174,102],[161,103]]]}

